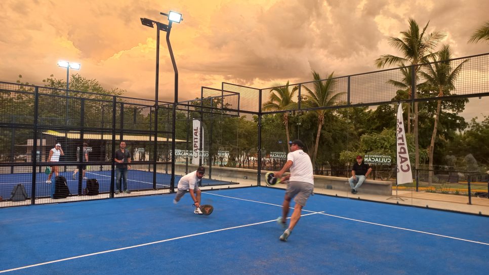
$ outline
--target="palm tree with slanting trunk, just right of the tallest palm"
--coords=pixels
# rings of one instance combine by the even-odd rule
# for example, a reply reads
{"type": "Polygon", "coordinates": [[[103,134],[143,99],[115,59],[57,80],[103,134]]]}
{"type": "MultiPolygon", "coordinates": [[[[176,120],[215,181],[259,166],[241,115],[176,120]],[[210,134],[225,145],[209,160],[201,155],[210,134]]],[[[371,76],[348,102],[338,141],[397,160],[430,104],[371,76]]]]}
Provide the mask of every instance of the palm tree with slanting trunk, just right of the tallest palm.
{"type": "MultiPolygon", "coordinates": [[[[460,63],[455,69],[452,69],[451,64],[452,53],[449,45],[443,45],[441,50],[432,58],[434,63],[427,66],[427,72],[421,71],[421,75],[426,78],[426,88],[430,91],[438,93],[437,97],[450,95],[450,91],[455,89],[455,80],[459,72],[468,59],[460,63]]],[[[431,184],[433,180],[433,152],[435,148],[436,131],[438,129],[438,121],[441,110],[441,100],[436,104],[435,121],[433,123],[433,134],[431,135],[431,143],[429,148],[429,176],[428,182],[431,184]]]]}

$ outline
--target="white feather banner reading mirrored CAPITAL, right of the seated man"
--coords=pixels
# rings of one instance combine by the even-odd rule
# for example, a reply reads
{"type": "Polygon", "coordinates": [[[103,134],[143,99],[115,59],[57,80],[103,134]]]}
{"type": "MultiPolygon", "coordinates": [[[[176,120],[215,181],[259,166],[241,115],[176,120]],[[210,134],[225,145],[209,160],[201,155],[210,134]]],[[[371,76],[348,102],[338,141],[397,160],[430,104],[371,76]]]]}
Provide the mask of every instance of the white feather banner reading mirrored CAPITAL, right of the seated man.
{"type": "Polygon", "coordinates": [[[413,182],[411,161],[409,160],[408,141],[404,131],[404,118],[402,117],[402,104],[397,108],[397,129],[396,129],[396,150],[397,150],[397,184],[407,184],[413,182]]]}

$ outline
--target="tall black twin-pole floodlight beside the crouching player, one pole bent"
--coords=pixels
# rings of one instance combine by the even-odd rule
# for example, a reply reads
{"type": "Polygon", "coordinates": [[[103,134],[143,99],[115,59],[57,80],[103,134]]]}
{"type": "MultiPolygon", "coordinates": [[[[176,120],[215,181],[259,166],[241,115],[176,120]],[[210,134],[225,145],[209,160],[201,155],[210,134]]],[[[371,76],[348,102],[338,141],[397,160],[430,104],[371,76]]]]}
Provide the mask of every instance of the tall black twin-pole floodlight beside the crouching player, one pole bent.
{"type": "MultiPolygon", "coordinates": [[[[182,19],[182,14],[170,11],[169,14],[160,13],[168,17],[168,25],[161,22],[157,22],[148,18],[141,18],[141,24],[147,27],[154,28],[156,25],[156,79],[154,84],[154,129],[155,129],[155,139],[154,139],[154,156],[157,156],[157,125],[158,125],[158,82],[159,82],[159,31],[167,32],[167,45],[168,51],[170,52],[170,58],[172,59],[173,70],[175,72],[175,98],[173,104],[173,123],[172,123],[172,151],[175,152],[175,115],[176,107],[178,103],[178,70],[177,64],[175,63],[175,57],[173,56],[172,45],[170,44],[170,31],[172,30],[172,23],[180,23],[182,19]]],[[[153,171],[156,171],[156,160],[153,164],[153,171]]],[[[156,188],[156,172],[153,172],[153,188],[156,188]]],[[[170,192],[174,192],[175,188],[175,154],[172,154],[172,179],[170,192]]]]}

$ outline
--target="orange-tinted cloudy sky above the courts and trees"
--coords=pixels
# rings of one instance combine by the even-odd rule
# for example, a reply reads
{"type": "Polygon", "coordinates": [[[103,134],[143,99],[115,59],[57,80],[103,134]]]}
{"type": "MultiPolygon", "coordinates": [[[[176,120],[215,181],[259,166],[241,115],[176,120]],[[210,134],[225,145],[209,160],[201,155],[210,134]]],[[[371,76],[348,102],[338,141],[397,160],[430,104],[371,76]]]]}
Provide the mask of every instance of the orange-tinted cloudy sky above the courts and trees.
{"type": "MultiPolygon", "coordinates": [[[[0,81],[43,85],[66,77],[58,60],[81,63],[78,73],[126,96],[154,99],[156,31],[140,17],[162,23],[160,12],[183,14],[171,42],[179,70],[179,101],[201,86],[231,82],[257,88],[275,82],[378,70],[388,43],[414,18],[428,31],[447,32],[454,57],[489,52],[467,43],[489,20],[487,0],[2,0],[0,81]]],[[[161,32],[159,99],[173,102],[173,67],[161,32]]]]}

